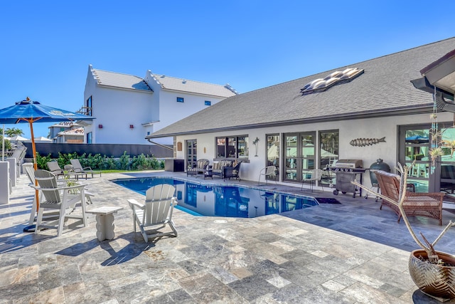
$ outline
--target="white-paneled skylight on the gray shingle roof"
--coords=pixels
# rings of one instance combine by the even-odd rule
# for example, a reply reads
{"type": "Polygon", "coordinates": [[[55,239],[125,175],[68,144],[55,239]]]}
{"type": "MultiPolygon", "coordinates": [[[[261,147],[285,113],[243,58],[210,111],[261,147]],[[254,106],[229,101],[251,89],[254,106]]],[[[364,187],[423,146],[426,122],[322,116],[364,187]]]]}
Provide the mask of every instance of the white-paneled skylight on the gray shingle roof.
{"type": "Polygon", "coordinates": [[[363,70],[358,68],[346,68],[343,71],[335,71],[326,76],[326,78],[318,78],[307,83],[304,88],[301,88],[302,95],[307,95],[316,92],[328,90],[332,85],[348,83],[350,80],[363,74],[363,70]]]}

